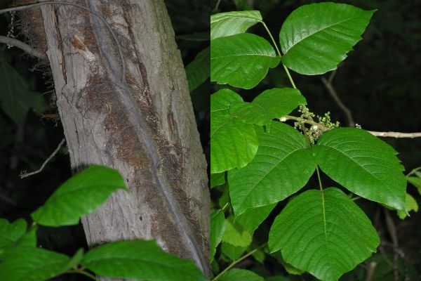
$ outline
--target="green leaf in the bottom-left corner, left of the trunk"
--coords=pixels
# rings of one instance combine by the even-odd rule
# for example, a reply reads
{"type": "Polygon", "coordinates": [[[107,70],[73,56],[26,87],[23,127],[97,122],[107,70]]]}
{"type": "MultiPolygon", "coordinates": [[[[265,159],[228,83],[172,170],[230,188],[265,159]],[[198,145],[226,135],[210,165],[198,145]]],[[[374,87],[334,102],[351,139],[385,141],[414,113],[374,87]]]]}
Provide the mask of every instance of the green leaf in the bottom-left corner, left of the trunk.
{"type": "Polygon", "coordinates": [[[65,272],[69,257],[36,247],[16,247],[1,256],[0,280],[42,281],[65,272]]]}

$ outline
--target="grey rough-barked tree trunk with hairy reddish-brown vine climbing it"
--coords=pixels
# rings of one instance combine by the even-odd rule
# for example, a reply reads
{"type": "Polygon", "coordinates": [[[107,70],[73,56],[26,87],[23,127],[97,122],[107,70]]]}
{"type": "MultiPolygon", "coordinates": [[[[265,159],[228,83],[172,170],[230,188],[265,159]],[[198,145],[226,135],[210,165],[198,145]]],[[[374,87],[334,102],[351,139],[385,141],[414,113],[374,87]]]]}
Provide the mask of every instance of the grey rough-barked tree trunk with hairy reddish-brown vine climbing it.
{"type": "Polygon", "coordinates": [[[155,239],[209,275],[206,162],[163,1],[72,3],[102,15],[119,42],[89,11],[41,7],[72,169],[112,166],[131,190],[83,218],[88,244],[155,239]]]}

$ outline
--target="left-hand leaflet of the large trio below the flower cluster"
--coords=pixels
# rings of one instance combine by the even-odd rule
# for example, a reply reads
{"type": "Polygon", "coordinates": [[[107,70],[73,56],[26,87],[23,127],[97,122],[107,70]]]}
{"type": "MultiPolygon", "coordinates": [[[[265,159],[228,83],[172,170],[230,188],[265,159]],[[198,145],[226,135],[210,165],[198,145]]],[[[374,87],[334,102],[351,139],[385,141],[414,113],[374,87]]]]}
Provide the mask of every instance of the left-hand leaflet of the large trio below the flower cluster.
{"type": "Polygon", "coordinates": [[[304,136],[293,127],[272,122],[270,133],[258,128],[259,149],[243,169],[228,172],[235,216],[250,208],[279,202],[302,188],[316,164],[304,136]]]}

